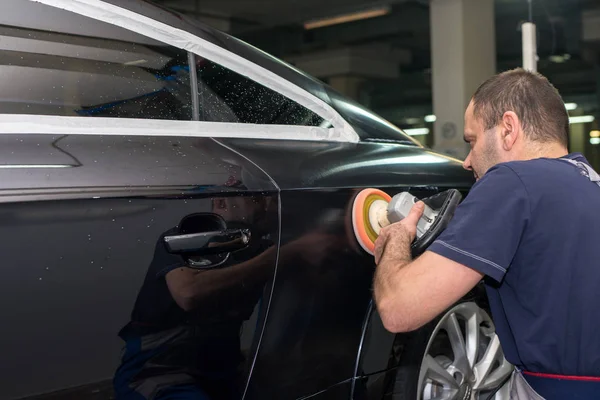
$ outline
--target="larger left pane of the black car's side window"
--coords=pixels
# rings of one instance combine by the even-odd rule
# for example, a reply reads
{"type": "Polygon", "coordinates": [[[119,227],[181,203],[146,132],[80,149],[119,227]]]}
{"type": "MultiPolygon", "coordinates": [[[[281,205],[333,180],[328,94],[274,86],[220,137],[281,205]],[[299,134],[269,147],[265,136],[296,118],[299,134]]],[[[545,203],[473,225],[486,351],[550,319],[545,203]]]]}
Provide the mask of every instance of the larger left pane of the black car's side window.
{"type": "Polygon", "coordinates": [[[58,8],[5,1],[0,113],[192,119],[185,51],[58,8]]]}

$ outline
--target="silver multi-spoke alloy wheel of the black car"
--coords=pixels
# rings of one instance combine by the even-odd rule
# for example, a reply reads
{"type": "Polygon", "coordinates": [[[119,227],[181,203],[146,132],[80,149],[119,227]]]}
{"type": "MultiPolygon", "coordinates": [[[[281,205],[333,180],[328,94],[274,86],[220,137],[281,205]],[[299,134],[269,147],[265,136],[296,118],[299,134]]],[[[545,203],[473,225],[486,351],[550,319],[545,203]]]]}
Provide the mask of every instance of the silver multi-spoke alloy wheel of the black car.
{"type": "Polygon", "coordinates": [[[421,362],[419,400],[508,400],[506,361],[488,313],[472,302],[448,311],[433,330],[421,362]]]}

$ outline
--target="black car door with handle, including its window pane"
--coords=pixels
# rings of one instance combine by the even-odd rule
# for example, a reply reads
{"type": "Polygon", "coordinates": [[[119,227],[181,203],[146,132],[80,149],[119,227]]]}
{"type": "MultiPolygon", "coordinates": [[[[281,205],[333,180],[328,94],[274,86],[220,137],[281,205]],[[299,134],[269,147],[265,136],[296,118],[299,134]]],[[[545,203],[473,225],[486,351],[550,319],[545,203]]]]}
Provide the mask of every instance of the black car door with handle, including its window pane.
{"type": "Polygon", "coordinates": [[[192,121],[186,51],[4,5],[0,398],[240,398],[276,266],[276,185],[192,121]]]}

